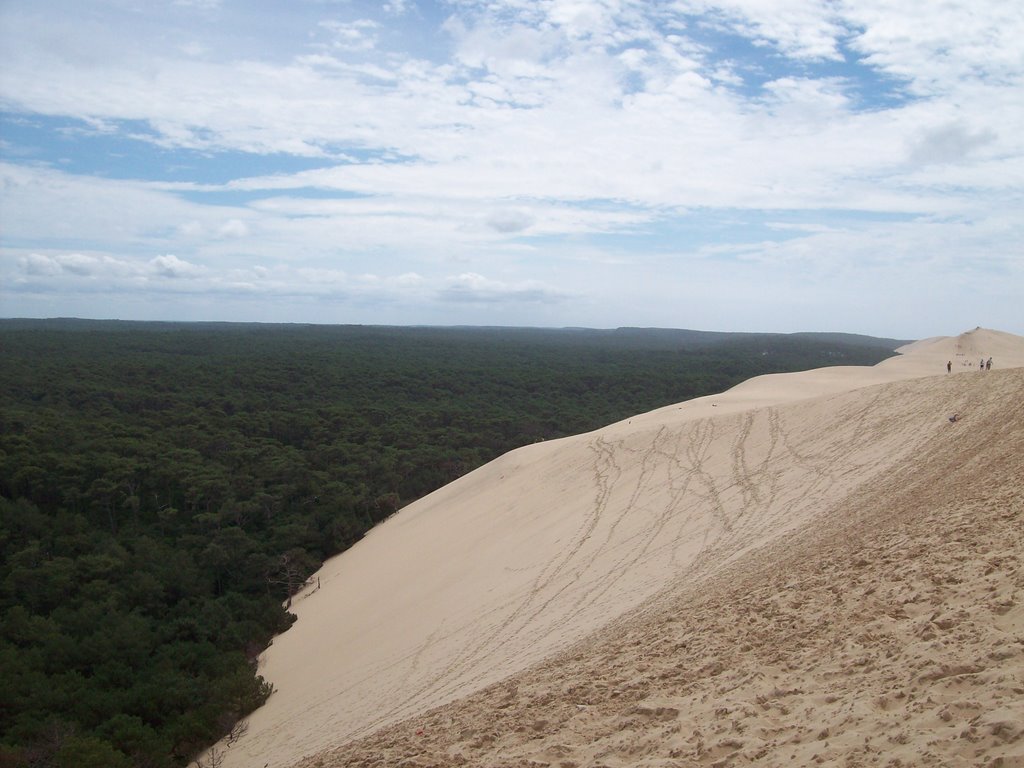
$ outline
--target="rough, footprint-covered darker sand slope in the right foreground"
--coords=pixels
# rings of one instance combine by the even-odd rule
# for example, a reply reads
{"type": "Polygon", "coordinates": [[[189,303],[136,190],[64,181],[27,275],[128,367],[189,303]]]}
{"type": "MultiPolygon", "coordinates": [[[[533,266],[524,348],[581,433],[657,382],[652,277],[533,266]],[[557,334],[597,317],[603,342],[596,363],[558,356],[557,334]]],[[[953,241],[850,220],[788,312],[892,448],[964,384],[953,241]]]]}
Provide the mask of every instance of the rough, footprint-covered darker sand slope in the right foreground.
{"type": "Polygon", "coordinates": [[[799,536],[300,765],[1024,765],[1024,371],[953,388],[964,422],[799,536]]]}

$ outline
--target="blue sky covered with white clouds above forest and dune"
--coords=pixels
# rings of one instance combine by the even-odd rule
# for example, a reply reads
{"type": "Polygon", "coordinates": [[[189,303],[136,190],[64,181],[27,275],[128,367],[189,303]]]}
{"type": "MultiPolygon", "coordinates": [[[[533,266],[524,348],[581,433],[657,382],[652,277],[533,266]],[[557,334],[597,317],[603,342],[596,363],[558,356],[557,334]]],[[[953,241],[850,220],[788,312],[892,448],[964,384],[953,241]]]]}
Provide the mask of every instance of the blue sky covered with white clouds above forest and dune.
{"type": "Polygon", "coordinates": [[[0,0],[0,316],[1024,334],[1024,4],[0,0]]]}

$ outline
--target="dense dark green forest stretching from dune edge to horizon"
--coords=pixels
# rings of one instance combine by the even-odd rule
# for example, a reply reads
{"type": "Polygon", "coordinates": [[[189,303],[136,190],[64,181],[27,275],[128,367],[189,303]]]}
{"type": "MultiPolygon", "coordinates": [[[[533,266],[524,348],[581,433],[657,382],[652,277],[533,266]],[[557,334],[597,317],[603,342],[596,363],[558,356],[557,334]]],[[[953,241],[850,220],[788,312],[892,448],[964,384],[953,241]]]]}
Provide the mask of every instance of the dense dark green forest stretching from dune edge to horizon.
{"type": "Polygon", "coordinates": [[[0,768],[173,768],[323,561],[514,447],[900,341],[0,321],[0,768]]]}

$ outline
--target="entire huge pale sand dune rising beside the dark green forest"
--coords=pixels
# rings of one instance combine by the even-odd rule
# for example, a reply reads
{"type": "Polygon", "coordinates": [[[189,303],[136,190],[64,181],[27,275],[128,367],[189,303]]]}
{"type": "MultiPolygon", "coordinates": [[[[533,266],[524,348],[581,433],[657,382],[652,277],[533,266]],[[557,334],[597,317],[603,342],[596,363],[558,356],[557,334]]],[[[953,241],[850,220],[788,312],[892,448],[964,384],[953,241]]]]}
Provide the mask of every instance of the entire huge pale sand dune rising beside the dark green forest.
{"type": "Polygon", "coordinates": [[[297,601],[223,765],[1024,765],[1024,339],[901,351],[407,507],[297,601]]]}

